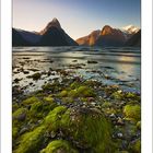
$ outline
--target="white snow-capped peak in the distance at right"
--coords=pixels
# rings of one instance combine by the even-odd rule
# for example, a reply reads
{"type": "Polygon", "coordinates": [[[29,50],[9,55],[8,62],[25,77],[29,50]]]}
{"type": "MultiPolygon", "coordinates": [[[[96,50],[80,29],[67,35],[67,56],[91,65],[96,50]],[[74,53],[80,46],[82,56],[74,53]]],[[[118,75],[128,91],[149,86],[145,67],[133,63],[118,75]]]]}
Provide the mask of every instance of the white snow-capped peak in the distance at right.
{"type": "Polygon", "coordinates": [[[128,25],[128,26],[121,27],[121,31],[128,34],[136,34],[138,33],[139,30],[140,28],[134,25],[128,25]]]}

